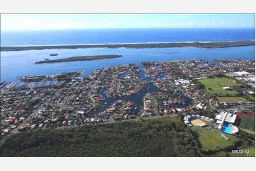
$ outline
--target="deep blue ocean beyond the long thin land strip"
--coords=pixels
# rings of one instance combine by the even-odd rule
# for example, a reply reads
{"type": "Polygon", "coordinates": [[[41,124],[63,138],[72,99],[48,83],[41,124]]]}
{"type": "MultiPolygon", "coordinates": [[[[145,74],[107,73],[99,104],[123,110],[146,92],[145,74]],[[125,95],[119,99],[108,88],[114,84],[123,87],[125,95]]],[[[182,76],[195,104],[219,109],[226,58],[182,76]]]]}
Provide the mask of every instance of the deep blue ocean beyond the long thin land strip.
{"type": "Polygon", "coordinates": [[[133,28],[1,31],[1,47],[255,40],[254,28],[133,28]]]}

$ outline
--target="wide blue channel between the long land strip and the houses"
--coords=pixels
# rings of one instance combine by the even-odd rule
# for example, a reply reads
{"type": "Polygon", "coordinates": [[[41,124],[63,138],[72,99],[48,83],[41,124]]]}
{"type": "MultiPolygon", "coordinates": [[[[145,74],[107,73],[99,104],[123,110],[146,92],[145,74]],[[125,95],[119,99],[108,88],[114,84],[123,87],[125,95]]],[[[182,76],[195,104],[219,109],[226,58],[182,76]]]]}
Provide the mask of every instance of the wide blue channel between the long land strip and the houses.
{"type": "Polygon", "coordinates": [[[255,45],[246,47],[226,47],[202,49],[195,47],[172,47],[165,49],[43,49],[19,52],[1,52],[1,81],[18,82],[17,76],[55,74],[68,71],[85,71],[85,76],[95,69],[118,64],[138,64],[140,61],[173,61],[204,59],[250,59],[255,60],[255,45]],[[59,54],[50,57],[49,54],[59,54]],[[52,64],[37,64],[46,58],[59,59],[83,55],[121,54],[123,57],[100,61],[72,61],[52,64]]]}

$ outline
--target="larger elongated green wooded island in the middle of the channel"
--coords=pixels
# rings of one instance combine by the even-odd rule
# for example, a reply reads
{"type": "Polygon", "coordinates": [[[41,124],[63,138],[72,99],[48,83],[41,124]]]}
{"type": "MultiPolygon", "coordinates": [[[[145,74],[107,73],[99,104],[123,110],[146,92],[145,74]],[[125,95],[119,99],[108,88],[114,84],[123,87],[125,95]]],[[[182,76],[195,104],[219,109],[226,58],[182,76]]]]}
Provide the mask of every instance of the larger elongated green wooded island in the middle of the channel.
{"type": "Polygon", "coordinates": [[[36,61],[35,64],[44,64],[44,63],[54,63],[54,62],[63,62],[63,61],[92,61],[99,59],[111,59],[122,57],[122,55],[110,54],[110,55],[96,55],[96,56],[81,56],[81,57],[69,57],[62,59],[46,59],[44,61],[36,61]]]}

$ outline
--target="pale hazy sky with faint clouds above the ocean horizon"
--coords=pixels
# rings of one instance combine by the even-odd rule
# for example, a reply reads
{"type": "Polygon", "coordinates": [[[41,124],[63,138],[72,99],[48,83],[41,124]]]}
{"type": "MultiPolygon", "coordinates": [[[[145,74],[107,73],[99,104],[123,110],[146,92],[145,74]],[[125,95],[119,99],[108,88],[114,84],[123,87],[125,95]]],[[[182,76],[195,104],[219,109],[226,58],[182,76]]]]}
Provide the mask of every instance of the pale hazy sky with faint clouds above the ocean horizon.
{"type": "Polygon", "coordinates": [[[1,30],[255,28],[254,14],[1,14],[1,30]]]}

